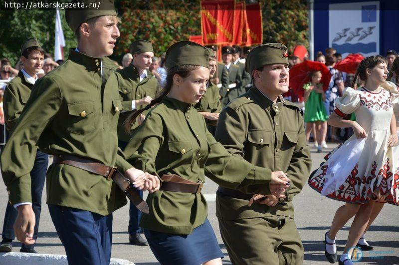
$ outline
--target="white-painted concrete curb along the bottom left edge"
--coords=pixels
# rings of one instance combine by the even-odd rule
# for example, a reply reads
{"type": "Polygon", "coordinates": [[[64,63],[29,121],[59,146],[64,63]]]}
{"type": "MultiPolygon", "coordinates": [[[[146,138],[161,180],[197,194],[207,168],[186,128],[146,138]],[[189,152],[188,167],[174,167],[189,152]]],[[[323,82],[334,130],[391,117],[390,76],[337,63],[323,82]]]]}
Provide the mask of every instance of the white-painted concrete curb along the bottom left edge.
{"type": "MultiPolygon", "coordinates": [[[[68,265],[65,255],[9,252],[0,254],[0,265],[68,265]]],[[[111,259],[110,265],[135,265],[122,259],[111,259]]]]}

